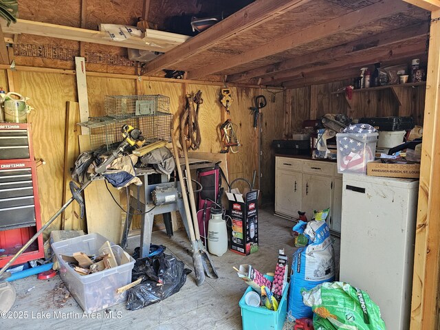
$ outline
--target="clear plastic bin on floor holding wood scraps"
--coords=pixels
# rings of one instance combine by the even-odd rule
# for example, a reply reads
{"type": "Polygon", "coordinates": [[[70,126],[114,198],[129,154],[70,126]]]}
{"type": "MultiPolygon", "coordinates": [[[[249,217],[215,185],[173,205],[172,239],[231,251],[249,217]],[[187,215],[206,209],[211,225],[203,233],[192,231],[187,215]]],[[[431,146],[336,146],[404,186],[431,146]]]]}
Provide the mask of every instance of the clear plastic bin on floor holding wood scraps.
{"type": "MultiPolygon", "coordinates": [[[[87,313],[100,311],[126,300],[126,292],[117,294],[116,290],[131,283],[131,270],[135,260],[130,257],[129,263],[124,265],[81,276],[67,265],[61,254],[67,256],[72,256],[75,252],[84,252],[87,255],[98,254],[99,248],[106,241],[108,240],[100,234],[88,234],[52,244],[52,250],[60,264],[60,276],[63,282],[78,305],[87,313]]],[[[124,250],[113,243],[111,250],[120,264],[124,250]]]]}

